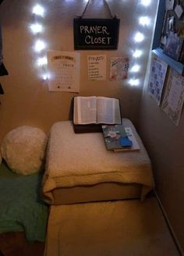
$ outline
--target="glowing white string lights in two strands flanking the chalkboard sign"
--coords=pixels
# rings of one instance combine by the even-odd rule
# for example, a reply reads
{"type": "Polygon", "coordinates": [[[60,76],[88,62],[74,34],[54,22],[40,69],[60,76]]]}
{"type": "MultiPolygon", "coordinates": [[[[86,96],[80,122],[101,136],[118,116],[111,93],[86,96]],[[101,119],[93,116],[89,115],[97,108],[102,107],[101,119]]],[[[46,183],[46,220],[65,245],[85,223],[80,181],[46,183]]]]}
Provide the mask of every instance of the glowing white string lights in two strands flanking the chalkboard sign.
{"type": "MultiPolygon", "coordinates": [[[[127,0],[123,0],[127,1],[127,0]]],[[[137,5],[140,5],[144,12],[147,12],[147,8],[150,7],[153,0],[137,0],[137,5]]],[[[48,45],[44,41],[42,34],[44,33],[44,18],[46,16],[46,10],[44,5],[36,4],[33,6],[32,14],[34,15],[34,22],[30,24],[30,30],[35,35],[34,42],[34,52],[37,55],[36,65],[40,69],[41,79],[48,80],[47,72],[47,56],[46,52],[48,45]]],[[[133,63],[129,69],[129,80],[128,84],[131,86],[139,86],[140,80],[137,78],[141,71],[141,57],[143,56],[143,48],[141,48],[141,43],[145,40],[145,34],[143,34],[143,27],[150,27],[152,24],[149,16],[138,16],[137,20],[138,27],[133,34],[133,50],[132,59],[133,63]]]]}

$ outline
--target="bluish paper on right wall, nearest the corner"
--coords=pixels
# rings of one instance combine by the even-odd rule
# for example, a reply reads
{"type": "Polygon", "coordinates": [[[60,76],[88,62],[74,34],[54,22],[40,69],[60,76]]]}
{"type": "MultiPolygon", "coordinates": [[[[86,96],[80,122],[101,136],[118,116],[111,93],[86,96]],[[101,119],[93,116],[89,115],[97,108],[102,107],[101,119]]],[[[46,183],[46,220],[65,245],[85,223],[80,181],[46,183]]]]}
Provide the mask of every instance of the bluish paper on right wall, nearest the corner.
{"type": "Polygon", "coordinates": [[[167,63],[158,58],[157,55],[152,55],[148,93],[157,101],[157,105],[160,105],[167,69],[167,63]]]}

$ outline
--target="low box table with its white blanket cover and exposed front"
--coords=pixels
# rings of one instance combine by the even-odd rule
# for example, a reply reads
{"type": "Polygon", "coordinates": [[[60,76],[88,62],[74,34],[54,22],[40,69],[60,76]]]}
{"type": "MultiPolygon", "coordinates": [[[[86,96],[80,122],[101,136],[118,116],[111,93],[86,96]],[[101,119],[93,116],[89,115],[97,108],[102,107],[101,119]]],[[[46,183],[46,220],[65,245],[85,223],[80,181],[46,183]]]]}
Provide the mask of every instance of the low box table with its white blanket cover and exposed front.
{"type": "Polygon", "coordinates": [[[140,151],[113,152],[105,148],[102,133],[74,133],[71,121],[50,130],[42,183],[49,204],[72,204],[140,197],[154,187],[150,158],[133,123],[140,151]]]}

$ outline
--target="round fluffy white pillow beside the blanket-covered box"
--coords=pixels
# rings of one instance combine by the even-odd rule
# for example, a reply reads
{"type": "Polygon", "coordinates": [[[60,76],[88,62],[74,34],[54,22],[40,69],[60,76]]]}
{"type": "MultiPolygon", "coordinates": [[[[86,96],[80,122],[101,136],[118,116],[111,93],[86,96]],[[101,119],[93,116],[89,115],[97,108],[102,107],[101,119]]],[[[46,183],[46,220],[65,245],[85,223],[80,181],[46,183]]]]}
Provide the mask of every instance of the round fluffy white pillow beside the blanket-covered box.
{"type": "Polygon", "coordinates": [[[46,134],[35,127],[20,126],[2,140],[2,158],[9,168],[19,174],[38,172],[44,162],[46,134]]]}

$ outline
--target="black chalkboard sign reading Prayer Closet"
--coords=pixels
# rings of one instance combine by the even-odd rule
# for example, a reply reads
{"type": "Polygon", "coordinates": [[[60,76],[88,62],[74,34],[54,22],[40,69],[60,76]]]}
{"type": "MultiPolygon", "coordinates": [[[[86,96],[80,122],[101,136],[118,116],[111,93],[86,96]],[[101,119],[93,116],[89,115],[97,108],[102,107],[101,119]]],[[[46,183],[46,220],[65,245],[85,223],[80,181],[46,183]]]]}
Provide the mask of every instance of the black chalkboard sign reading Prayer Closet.
{"type": "Polygon", "coordinates": [[[119,22],[113,19],[74,19],[74,49],[117,49],[119,22]]]}

